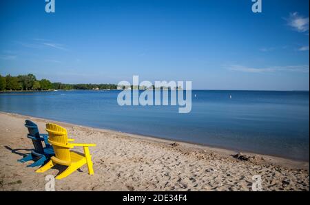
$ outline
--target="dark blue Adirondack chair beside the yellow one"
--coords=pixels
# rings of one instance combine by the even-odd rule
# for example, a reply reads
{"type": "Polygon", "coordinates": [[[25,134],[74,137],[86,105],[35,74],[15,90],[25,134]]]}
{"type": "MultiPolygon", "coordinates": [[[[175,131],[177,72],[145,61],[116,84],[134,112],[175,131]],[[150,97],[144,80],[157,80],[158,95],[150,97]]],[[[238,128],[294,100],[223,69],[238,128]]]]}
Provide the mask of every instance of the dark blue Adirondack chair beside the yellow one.
{"type": "Polygon", "coordinates": [[[24,158],[18,160],[19,162],[28,162],[30,160],[36,160],[34,163],[29,164],[28,167],[41,166],[46,161],[50,160],[50,157],[54,155],[54,150],[52,146],[48,143],[48,134],[40,134],[38,126],[30,121],[25,120],[25,127],[28,128],[27,138],[32,140],[34,149],[31,153],[24,158]],[[45,143],[45,147],[42,145],[42,141],[45,143]]]}

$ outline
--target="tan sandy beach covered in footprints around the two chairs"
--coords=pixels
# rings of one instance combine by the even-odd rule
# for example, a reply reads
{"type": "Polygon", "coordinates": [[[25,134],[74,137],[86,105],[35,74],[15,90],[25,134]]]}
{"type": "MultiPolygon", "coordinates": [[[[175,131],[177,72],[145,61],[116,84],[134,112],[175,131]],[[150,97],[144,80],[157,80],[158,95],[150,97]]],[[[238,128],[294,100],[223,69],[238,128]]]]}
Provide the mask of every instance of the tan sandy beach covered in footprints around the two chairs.
{"type": "MultiPolygon", "coordinates": [[[[17,162],[33,148],[25,119],[36,122],[41,133],[46,122],[55,122],[0,112],[1,191],[44,191],[45,176],[63,170],[35,173],[37,168],[26,167],[30,162],[17,162]]],[[[254,153],[236,158],[236,151],[227,149],[55,123],[76,143],[97,144],[90,148],[94,175],[83,166],[56,180],[56,191],[251,191],[254,175],[261,175],[263,191],[309,191],[309,162],[254,153]]]]}

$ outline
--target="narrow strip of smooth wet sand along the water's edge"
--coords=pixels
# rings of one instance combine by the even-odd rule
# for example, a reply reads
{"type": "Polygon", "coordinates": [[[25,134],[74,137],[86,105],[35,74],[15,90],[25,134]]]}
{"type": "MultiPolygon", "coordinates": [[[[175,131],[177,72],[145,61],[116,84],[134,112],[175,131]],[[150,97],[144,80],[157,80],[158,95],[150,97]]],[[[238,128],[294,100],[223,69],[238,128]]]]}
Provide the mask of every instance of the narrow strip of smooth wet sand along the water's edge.
{"type": "Polygon", "coordinates": [[[54,122],[54,123],[59,124],[59,125],[75,126],[75,127],[81,127],[84,129],[92,129],[92,130],[96,130],[96,131],[118,133],[118,134],[121,134],[123,136],[130,136],[132,138],[138,138],[140,140],[149,140],[152,142],[164,142],[166,144],[178,143],[178,144],[183,144],[183,146],[185,146],[185,147],[192,147],[192,148],[199,149],[202,151],[207,149],[210,151],[216,151],[216,152],[221,153],[221,154],[225,153],[226,155],[227,154],[236,155],[237,153],[242,153],[245,155],[257,155],[257,156],[260,156],[260,157],[262,157],[265,160],[270,161],[270,162],[280,162],[280,163],[276,163],[277,165],[280,165],[280,166],[288,166],[289,168],[292,167],[292,168],[297,168],[297,169],[301,168],[301,169],[309,170],[309,162],[306,160],[296,160],[296,159],[292,159],[292,158],[284,158],[284,157],[281,157],[278,155],[267,155],[267,154],[263,154],[263,153],[245,151],[242,149],[240,149],[240,150],[229,149],[227,147],[218,147],[218,146],[212,146],[212,145],[208,145],[208,144],[188,142],[185,140],[172,140],[172,139],[168,139],[168,138],[162,138],[159,136],[141,135],[139,133],[129,133],[129,132],[117,131],[117,130],[113,130],[113,129],[90,127],[90,126],[79,125],[79,124],[74,124],[74,123],[70,123],[70,122],[62,122],[59,120],[52,120],[52,119],[48,119],[48,118],[39,118],[39,117],[35,117],[35,116],[26,116],[26,115],[22,115],[22,114],[16,114],[16,113],[4,112],[4,111],[0,111],[0,114],[17,116],[17,117],[21,117],[21,118],[30,118],[32,120],[40,120],[41,122],[49,121],[49,122],[54,122]],[[301,164],[303,164],[303,165],[300,166],[301,164]],[[304,164],[306,164],[306,165],[304,166],[304,164]]]}

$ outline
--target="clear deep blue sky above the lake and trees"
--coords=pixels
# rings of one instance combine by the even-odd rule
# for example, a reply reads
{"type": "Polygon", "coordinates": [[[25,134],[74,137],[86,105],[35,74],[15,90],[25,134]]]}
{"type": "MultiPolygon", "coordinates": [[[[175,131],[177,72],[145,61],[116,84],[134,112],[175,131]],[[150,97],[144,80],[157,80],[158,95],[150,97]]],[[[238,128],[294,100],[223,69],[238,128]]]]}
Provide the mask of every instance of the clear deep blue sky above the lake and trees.
{"type": "Polygon", "coordinates": [[[0,74],[309,90],[309,1],[0,1],[0,74]]]}

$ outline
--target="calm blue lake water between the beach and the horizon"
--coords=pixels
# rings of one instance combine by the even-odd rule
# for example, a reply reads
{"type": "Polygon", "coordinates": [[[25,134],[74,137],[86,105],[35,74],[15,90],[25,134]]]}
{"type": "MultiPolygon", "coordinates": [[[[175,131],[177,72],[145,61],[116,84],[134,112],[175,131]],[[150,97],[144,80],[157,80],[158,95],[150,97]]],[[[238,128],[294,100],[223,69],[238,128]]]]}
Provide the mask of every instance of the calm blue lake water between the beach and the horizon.
{"type": "Polygon", "coordinates": [[[1,93],[0,111],[309,161],[309,91],[197,90],[189,114],[121,107],[119,92],[1,93]]]}

